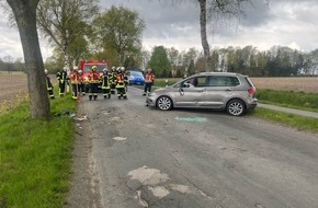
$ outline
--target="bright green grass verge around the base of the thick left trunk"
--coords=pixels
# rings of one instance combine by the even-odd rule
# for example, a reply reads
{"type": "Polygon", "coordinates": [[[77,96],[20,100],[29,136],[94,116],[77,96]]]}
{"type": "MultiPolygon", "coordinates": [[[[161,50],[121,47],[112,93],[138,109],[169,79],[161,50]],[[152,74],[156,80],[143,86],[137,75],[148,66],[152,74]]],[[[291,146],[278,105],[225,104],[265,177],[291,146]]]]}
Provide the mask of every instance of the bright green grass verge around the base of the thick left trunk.
{"type": "Polygon", "coordinates": [[[22,102],[0,115],[0,207],[63,207],[68,192],[75,112],[68,97],[52,101],[50,122],[30,118],[22,102]],[[60,113],[61,112],[61,113],[60,113]]]}

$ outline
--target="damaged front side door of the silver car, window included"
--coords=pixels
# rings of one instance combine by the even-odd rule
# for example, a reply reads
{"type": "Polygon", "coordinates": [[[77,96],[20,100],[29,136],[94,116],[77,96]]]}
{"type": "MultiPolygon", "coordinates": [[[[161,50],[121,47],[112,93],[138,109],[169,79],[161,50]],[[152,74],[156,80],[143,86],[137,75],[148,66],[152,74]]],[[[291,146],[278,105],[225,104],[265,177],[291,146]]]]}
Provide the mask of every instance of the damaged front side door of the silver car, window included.
{"type": "Polygon", "coordinates": [[[206,77],[185,79],[175,93],[175,107],[198,107],[204,104],[206,77]]]}

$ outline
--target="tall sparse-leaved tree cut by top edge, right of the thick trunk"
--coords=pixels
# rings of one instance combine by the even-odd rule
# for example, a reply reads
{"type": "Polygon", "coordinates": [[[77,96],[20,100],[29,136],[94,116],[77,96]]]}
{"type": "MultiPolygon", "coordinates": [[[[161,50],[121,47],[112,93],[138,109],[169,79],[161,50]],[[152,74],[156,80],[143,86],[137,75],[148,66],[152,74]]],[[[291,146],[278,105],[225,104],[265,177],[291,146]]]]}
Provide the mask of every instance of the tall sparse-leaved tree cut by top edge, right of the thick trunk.
{"type": "Polygon", "coordinates": [[[88,53],[87,36],[96,11],[98,0],[41,0],[38,28],[63,51],[66,67],[88,53]]]}

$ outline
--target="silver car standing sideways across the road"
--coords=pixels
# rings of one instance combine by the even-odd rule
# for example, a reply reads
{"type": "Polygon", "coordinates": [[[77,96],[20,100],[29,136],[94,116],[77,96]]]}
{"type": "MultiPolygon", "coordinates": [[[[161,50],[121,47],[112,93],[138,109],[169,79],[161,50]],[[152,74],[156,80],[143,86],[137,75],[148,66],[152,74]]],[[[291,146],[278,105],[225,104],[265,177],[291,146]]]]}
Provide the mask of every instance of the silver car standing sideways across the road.
{"type": "Polygon", "coordinates": [[[225,109],[240,116],[258,105],[255,86],[248,76],[229,72],[203,72],[147,96],[148,106],[162,111],[172,107],[225,109]]]}

